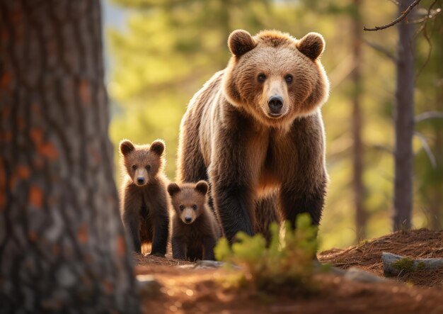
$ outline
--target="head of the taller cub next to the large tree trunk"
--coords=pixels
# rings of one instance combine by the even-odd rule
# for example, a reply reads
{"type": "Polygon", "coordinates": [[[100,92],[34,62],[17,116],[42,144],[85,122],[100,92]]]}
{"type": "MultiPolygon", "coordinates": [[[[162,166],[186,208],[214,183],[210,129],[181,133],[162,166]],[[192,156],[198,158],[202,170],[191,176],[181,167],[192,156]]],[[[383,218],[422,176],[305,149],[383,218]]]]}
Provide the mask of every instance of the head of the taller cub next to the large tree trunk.
{"type": "Polygon", "coordinates": [[[154,140],[151,145],[134,145],[130,140],[120,142],[122,172],[129,174],[137,186],[144,186],[163,171],[166,163],[165,143],[154,140]]]}

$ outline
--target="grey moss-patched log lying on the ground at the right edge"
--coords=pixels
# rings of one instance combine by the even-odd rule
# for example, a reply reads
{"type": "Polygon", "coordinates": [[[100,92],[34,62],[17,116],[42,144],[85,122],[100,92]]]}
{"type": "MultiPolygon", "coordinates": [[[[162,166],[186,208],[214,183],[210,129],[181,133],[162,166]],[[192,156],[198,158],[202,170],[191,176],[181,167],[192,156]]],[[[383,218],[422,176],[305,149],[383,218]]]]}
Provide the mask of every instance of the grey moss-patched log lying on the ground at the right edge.
{"type": "Polygon", "coordinates": [[[443,267],[443,258],[439,259],[411,259],[388,252],[381,253],[384,276],[398,276],[404,272],[422,269],[437,269],[443,267]]]}

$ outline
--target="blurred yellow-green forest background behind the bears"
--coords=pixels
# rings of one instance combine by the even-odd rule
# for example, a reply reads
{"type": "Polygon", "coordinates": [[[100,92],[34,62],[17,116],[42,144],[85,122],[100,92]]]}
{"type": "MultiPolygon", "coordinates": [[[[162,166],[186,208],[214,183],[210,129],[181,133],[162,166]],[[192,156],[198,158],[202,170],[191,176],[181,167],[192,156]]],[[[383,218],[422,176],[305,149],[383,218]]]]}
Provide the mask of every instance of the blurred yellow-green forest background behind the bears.
{"type": "MultiPolygon", "coordinates": [[[[443,119],[427,118],[443,111],[441,7],[423,0],[408,16],[416,40],[413,228],[443,223],[443,119]]],[[[322,249],[391,232],[398,30],[362,28],[388,23],[397,11],[393,0],[103,0],[115,168],[122,138],[163,138],[174,178],[180,119],[192,95],[226,67],[232,30],[275,28],[296,38],[316,31],[326,39],[322,62],[331,82],[323,106],[330,185],[322,249]]]]}

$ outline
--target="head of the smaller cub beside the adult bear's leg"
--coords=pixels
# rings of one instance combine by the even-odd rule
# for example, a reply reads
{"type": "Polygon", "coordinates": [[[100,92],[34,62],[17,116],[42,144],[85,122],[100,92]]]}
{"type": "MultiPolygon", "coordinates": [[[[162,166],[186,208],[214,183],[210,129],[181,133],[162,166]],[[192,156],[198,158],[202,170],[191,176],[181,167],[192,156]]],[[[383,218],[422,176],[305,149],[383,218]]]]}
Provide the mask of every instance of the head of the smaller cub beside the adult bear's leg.
{"type": "Polygon", "coordinates": [[[183,223],[188,225],[193,223],[205,211],[207,190],[206,181],[198,181],[197,184],[171,183],[168,185],[172,206],[183,223]]]}

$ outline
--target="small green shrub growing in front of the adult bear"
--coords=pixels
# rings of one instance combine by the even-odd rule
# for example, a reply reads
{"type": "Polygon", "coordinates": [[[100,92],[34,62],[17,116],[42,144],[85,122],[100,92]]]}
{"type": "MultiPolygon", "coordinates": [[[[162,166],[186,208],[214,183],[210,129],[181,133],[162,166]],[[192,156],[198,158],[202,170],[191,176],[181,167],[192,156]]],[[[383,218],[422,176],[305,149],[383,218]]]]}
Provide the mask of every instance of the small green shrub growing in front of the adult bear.
{"type": "Polygon", "coordinates": [[[218,260],[236,264],[242,269],[239,284],[270,293],[310,293],[315,290],[312,281],[313,258],[318,243],[317,228],[311,225],[309,214],[299,215],[296,230],[284,223],[270,226],[271,240],[267,246],[263,235],[250,237],[238,232],[238,242],[229,246],[223,238],[215,247],[218,260]]]}

